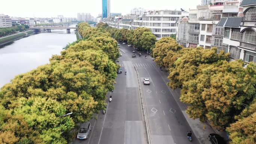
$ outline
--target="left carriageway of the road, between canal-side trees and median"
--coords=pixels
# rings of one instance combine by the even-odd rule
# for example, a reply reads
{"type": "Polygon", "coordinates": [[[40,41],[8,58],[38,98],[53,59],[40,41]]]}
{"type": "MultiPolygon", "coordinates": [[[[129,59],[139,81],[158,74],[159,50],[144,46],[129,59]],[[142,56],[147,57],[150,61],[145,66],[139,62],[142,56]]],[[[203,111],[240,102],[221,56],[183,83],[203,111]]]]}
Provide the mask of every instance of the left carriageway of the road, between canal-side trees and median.
{"type": "MultiPolygon", "coordinates": [[[[146,144],[142,122],[138,78],[135,68],[128,58],[119,58],[123,73],[116,78],[112,102],[107,99],[107,111],[91,120],[92,131],[87,140],[76,140],[74,144],[146,144]],[[128,74],[124,71],[127,69],[128,74]]],[[[109,96],[109,93],[107,96],[109,96]]]]}

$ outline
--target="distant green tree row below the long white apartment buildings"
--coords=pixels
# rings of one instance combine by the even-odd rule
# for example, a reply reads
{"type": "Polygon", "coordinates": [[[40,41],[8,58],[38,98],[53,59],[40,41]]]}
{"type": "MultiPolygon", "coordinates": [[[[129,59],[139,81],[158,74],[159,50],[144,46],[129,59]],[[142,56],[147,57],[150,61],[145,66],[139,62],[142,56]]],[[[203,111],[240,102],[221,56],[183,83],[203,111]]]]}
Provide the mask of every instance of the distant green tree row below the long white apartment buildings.
{"type": "Polygon", "coordinates": [[[132,44],[139,50],[151,50],[155,47],[156,37],[150,32],[149,28],[137,28],[135,30],[118,29],[109,27],[107,24],[99,23],[98,28],[106,30],[110,36],[120,42],[132,44]]]}

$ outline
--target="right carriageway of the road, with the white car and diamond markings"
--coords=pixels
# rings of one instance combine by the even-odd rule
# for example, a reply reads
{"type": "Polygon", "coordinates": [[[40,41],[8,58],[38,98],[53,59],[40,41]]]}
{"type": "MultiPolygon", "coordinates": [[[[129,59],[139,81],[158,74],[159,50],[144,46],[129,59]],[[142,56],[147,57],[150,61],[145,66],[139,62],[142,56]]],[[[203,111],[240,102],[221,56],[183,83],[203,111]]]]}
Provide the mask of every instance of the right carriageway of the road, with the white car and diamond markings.
{"type": "Polygon", "coordinates": [[[142,88],[152,144],[199,144],[194,135],[192,142],[188,141],[186,132],[191,131],[191,128],[182,114],[184,109],[181,110],[175,101],[165,83],[165,76],[161,74],[163,72],[151,57],[147,55],[145,59],[144,54],[131,58],[132,48],[127,45],[121,45],[121,50],[137,68],[141,84],[143,85],[144,78],[150,79],[150,85],[143,85],[142,88]]]}

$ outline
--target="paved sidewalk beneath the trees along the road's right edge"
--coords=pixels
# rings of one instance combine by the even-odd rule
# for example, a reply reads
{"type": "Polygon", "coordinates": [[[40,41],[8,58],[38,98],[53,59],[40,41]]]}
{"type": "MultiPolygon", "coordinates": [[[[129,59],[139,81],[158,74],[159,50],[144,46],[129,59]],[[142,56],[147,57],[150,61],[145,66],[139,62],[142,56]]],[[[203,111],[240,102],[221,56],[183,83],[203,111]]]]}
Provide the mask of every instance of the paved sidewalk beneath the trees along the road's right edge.
{"type": "MultiPolygon", "coordinates": [[[[169,82],[168,80],[168,74],[164,71],[161,71],[162,79],[164,79],[165,83],[169,82]]],[[[186,108],[188,105],[184,104],[183,102],[180,102],[180,88],[177,88],[175,90],[172,90],[170,87],[168,87],[169,91],[173,95],[175,101],[179,105],[180,109],[182,110],[182,113],[184,117],[186,118],[189,126],[191,127],[193,134],[192,137],[198,138],[198,141],[200,144],[211,144],[211,142],[208,140],[208,135],[211,133],[219,134],[221,137],[223,137],[225,140],[227,140],[226,132],[220,132],[217,129],[214,129],[210,126],[209,123],[201,123],[199,119],[191,119],[189,115],[186,113],[186,108]]],[[[226,144],[228,142],[226,141],[226,144]]]]}

